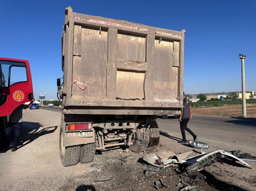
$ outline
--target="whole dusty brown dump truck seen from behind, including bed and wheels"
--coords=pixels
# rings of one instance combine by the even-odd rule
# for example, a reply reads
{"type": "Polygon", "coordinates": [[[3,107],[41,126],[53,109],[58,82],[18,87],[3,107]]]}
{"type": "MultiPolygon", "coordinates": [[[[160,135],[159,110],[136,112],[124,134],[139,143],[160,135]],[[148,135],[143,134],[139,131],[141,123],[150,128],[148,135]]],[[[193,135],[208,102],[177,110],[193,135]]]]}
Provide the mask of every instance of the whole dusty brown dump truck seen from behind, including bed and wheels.
{"type": "Polygon", "coordinates": [[[91,162],[95,150],[157,147],[157,115],[183,107],[185,32],[66,8],[57,79],[64,166],[91,162]]]}

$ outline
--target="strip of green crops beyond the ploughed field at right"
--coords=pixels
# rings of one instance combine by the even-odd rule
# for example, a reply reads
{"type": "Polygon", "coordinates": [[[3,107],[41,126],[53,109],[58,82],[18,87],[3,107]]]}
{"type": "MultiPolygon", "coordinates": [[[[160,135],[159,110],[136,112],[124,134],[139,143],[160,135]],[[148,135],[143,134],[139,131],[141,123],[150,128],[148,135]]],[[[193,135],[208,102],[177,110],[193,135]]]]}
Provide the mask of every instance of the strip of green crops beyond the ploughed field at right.
{"type": "MultiPolygon", "coordinates": [[[[247,104],[256,104],[256,99],[247,99],[247,104]]],[[[224,105],[239,105],[242,104],[242,100],[220,100],[220,101],[207,101],[207,102],[193,102],[191,103],[192,107],[212,107],[212,106],[224,106],[224,105]]]]}

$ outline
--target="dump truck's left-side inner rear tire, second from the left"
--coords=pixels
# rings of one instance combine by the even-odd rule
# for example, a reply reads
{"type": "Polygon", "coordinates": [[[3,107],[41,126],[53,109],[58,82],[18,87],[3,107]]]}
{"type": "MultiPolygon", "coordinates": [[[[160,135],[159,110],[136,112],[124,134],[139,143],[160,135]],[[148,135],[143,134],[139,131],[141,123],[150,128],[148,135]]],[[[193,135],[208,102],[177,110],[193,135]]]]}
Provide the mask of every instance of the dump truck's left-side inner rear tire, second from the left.
{"type": "Polygon", "coordinates": [[[89,163],[94,159],[96,143],[89,143],[81,147],[80,163],[89,163]]]}

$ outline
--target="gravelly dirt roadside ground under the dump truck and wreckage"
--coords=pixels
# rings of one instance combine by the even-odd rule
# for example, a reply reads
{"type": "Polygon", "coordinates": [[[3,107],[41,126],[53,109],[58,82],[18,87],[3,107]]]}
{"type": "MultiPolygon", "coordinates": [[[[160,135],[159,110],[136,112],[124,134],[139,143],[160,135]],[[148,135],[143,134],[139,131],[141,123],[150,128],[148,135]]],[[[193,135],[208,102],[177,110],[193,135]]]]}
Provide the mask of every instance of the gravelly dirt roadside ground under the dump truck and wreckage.
{"type": "MultiPolygon", "coordinates": [[[[150,191],[156,190],[154,181],[159,179],[168,186],[162,190],[176,191],[184,186],[174,171],[176,167],[159,169],[157,174],[149,176],[143,173],[146,167],[140,158],[146,154],[192,150],[168,136],[160,136],[160,144],[154,152],[126,153],[117,148],[98,152],[91,163],[63,167],[59,155],[61,113],[43,109],[25,110],[23,119],[25,122],[19,149],[14,153],[4,146],[1,149],[0,190],[150,191]],[[126,163],[119,160],[125,156],[128,156],[126,163]]],[[[177,136],[172,133],[168,135],[177,136]]],[[[223,146],[221,143],[210,144],[211,148],[207,151],[218,150],[220,147],[226,150],[237,149],[223,146]]],[[[256,155],[254,151],[245,152],[256,155]]],[[[193,155],[195,154],[194,152],[193,155]]],[[[190,184],[198,186],[201,191],[256,191],[256,163],[250,165],[253,169],[236,162],[215,163],[205,170],[192,173],[190,184]]]]}

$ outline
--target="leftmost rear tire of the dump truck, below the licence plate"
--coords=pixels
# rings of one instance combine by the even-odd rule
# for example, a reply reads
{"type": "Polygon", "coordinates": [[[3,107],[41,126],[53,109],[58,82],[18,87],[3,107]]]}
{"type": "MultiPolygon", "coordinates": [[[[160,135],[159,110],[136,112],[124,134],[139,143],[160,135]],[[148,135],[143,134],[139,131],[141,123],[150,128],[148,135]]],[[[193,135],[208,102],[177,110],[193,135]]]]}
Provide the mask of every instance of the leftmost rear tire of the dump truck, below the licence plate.
{"type": "Polygon", "coordinates": [[[61,162],[64,167],[76,165],[79,162],[80,159],[80,151],[81,146],[69,146],[64,147],[63,146],[63,139],[64,139],[64,133],[62,131],[62,127],[60,129],[60,156],[61,156],[61,162]]]}

